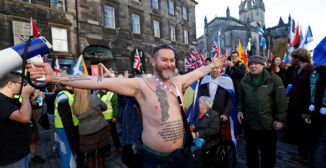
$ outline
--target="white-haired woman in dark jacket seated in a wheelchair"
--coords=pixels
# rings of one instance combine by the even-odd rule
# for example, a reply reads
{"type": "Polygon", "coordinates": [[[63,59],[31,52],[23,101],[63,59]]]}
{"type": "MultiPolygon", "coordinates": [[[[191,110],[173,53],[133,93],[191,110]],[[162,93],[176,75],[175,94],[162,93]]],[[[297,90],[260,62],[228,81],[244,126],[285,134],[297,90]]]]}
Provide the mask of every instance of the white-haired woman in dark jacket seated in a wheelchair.
{"type": "Polygon", "coordinates": [[[198,158],[198,168],[203,168],[203,152],[218,143],[218,132],[220,130],[219,114],[212,110],[213,101],[208,96],[199,97],[199,121],[192,135],[194,138],[206,139],[203,149],[195,151],[198,158]]]}

